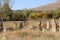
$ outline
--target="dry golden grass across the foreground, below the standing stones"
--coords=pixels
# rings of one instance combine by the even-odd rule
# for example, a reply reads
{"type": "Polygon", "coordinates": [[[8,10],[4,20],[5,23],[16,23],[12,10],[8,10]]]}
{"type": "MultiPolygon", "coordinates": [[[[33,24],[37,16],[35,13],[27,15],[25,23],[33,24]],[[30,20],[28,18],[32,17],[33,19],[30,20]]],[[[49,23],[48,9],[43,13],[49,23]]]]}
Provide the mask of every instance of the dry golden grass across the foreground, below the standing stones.
{"type": "MultiPolygon", "coordinates": [[[[0,33],[0,40],[2,33],[0,33]]],[[[41,32],[40,30],[14,30],[6,32],[6,40],[60,40],[60,32],[41,32]]]]}

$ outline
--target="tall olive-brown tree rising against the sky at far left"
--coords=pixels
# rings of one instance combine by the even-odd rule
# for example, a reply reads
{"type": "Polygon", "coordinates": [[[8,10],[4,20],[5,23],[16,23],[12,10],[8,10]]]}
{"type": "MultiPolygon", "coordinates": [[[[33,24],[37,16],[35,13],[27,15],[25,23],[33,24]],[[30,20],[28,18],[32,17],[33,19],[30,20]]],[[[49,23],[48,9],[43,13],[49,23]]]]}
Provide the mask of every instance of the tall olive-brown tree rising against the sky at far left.
{"type": "MultiPolygon", "coordinates": [[[[11,10],[11,7],[10,7],[10,2],[11,2],[11,0],[3,0],[3,2],[2,3],[4,3],[4,5],[3,5],[3,18],[4,18],[4,20],[6,19],[6,17],[11,17],[10,15],[11,15],[11,13],[12,13],[12,10],[11,10]]],[[[11,18],[10,18],[11,19],[11,18]]]]}

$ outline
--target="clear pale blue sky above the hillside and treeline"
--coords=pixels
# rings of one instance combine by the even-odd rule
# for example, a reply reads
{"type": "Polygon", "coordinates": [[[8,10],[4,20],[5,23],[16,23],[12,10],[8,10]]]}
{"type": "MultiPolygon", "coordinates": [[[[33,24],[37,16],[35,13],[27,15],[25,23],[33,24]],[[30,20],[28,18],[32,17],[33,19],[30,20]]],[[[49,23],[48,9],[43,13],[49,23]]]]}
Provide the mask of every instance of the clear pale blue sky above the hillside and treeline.
{"type": "Polygon", "coordinates": [[[13,0],[11,9],[21,10],[25,8],[36,8],[54,2],[56,2],[56,0],[13,0]]]}

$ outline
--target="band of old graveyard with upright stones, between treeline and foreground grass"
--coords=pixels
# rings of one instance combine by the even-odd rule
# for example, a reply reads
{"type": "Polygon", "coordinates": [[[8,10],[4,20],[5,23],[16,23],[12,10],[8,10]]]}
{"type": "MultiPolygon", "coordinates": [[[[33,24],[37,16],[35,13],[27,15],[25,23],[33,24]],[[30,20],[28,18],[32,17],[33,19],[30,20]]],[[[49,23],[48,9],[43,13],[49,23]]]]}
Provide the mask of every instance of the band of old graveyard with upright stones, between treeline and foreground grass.
{"type": "MultiPolygon", "coordinates": [[[[1,25],[1,24],[0,24],[1,25]]],[[[29,29],[41,31],[60,31],[60,18],[59,19],[46,19],[46,20],[29,20],[29,21],[3,21],[3,28],[6,29],[29,29]]]]}

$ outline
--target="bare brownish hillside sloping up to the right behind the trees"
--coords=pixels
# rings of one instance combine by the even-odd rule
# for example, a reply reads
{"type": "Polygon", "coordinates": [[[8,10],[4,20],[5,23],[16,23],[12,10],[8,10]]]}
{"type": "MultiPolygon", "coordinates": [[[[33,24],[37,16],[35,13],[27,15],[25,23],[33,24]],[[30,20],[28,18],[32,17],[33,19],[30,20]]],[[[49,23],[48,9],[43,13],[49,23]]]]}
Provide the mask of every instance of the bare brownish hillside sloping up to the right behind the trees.
{"type": "Polygon", "coordinates": [[[56,8],[60,8],[60,0],[57,0],[57,2],[52,4],[32,8],[32,10],[55,10],[56,8]]]}

